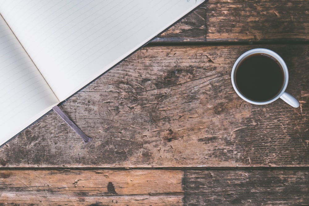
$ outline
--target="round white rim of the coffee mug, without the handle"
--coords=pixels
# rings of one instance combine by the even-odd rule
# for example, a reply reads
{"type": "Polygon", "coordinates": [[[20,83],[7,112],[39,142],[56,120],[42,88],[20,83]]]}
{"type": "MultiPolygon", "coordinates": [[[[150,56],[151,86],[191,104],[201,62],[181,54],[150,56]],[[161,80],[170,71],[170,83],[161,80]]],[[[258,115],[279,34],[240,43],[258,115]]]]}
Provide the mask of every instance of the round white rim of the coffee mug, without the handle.
{"type": "Polygon", "coordinates": [[[286,87],[288,85],[288,80],[289,80],[289,72],[288,72],[288,68],[286,66],[285,61],[279,56],[279,54],[277,54],[276,52],[274,52],[273,50],[267,49],[267,48],[254,48],[254,49],[250,49],[248,51],[246,51],[245,53],[243,53],[242,55],[240,55],[237,60],[235,61],[233,68],[232,68],[232,72],[231,72],[231,81],[232,81],[232,85],[233,88],[235,90],[235,92],[237,93],[238,96],[240,96],[243,100],[252,103],[252,104],[257,104],[257,105],[263,105],[263,104],[269,104],[272,103],[274,101],[276,101],[277,99],[280,98],[280,96],[284,93],[284,91],[286,90],[286,87]],[[274,98],[269,99],[267,101],[254,101],[251,99],[248,99],[247,97],[245,97],[243,94],[240,93],[240,91],[238,90],[236,84],[235,84],[235,70],[237,68],[237,66],[239,65],[239,63],[241,61],[243,61],[244,58],[253,55],[253,54],[267,54],[270,55],[271,57],[273,57],[274,59],[276,59],[280,65],[281,68],[283,69],[283,73],[284,73],[284,83],[283,86],[281,88],[281,91],[279,92],[278,95],[276,95],[274,98]]]}

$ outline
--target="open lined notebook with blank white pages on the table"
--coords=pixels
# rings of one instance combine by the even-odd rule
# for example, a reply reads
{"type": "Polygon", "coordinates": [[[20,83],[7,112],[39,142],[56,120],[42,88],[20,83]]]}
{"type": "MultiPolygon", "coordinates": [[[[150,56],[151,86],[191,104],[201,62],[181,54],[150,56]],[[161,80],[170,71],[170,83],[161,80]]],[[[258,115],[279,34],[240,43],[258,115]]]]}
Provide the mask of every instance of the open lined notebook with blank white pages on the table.
{"type": "Polygon", "coordinates": [[[0,145],[204,1],[0,1],[0,145]]]}

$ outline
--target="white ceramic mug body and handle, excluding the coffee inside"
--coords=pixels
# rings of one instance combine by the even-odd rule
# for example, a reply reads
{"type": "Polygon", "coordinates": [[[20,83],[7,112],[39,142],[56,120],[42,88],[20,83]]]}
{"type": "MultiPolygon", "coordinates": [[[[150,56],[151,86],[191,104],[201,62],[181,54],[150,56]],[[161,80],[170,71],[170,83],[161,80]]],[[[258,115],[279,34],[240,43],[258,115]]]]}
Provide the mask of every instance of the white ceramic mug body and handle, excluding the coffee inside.
{"type": "Polygon", "coordinates": [[[297,99],[295,99],[292,95],[290,95],[289,93],[286,93],[286,87],[288,85],[288,81],[289,81],[289,72],[288,69],[286,67],[286,63],[283,61],[283,59],[274,51],[266,49],[266,48],[255,48],[255,49],[251,49],[245,53],[243,53],[240,57],[238,57],[238,59],[236,60],[233,69],[232,69],[232,74],[231,74],[231,80],[232,80],[232,85],[234,87],[234,90],[236,91],[236,93],[245,101],[252,103],[252,104],[258,104],[258,105],[263,105],[263,104],[269,104],[272,103],[273,101],[281,98],[283,101],[285,101],[286,103],[290,104],[292,107],[299,107],[299,102],[297,99]],[[247,98],[246,96],[244,96],[239,89],[237,88],[237,84],[235,82],[235,73],[237,70],[237,67],[239,66],[240,63],[242,63],[242,61],[248,57],[251,56],[253,54],[265,54],[266,56],[271,57],[272,59],[275,59],[275,61],[277,61],[277,63],[280,64],[281,69],[283,70],[283,75],[284,75],[284,82],[283,82],[283,86],[281,87],[280,92],[274,96],[272,99],[269,99],[267,101],[255,101],[252,99],[247,98]]]}

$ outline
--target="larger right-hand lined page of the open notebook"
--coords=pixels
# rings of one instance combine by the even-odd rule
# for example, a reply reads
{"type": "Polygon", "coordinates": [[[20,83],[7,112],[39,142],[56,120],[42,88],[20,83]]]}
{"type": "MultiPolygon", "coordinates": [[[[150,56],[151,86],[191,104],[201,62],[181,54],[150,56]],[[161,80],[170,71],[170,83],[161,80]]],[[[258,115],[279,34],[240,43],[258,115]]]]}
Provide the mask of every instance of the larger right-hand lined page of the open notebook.
{"type": "Polygon", "coordinates": [[[64,100],[204,0],[9,0],[0,13],[64,100]]]}

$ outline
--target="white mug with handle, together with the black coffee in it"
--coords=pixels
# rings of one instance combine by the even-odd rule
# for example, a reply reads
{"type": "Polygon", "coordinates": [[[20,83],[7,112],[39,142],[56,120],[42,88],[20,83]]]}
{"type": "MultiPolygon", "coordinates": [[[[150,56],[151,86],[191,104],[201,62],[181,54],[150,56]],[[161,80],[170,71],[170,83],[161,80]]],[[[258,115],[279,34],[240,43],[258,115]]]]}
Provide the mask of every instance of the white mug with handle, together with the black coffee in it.
{"type": "Polygon", "coordinates": [[[268,104],[278,98],[293,107],[299,102],[285,92],[288,69],[283,59],[275,52],[256,48],[243,53],[235,62],[231,80],[236,93],[253,104],[268,104]]]}

